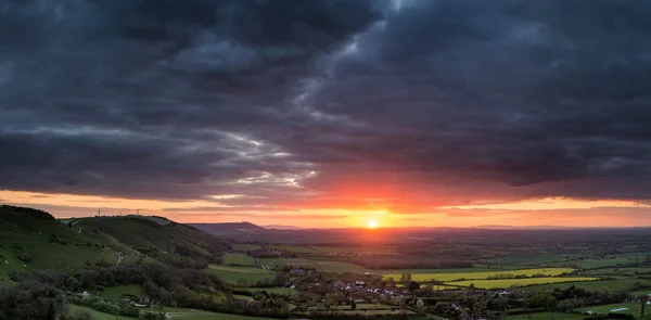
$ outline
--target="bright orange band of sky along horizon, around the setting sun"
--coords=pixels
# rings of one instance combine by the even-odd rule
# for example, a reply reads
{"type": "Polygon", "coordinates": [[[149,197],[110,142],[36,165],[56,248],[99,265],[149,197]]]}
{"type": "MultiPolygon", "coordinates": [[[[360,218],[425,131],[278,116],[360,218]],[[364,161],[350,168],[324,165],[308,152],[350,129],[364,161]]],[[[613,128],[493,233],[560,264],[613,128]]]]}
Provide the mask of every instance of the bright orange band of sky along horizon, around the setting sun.
{"type": "Polygon", "coordinates": [[[259,226],[302,228],[477,227],[565,226],[651,227],[651,205],[620,200],[533,199],[457,206],[435,206],[405,195],[404,206],[371,203],[357,206],[346,199],[296,203],[259,204],[244,194],[220,194],[207,200],[165,201],[99,195],[2,191],[0,204],[40,208],[58,218],[136,214],[165,216],[181,223],[250,221],[259,226]],[[238,201],[233,201],[233,200],[238,201]],[[278,208],[275,208],[278,206],[278,208]],[[268,210],[265,208],[271,207],[268,210]],[[284,209],[286,208],[286,209],[284,209]]]}

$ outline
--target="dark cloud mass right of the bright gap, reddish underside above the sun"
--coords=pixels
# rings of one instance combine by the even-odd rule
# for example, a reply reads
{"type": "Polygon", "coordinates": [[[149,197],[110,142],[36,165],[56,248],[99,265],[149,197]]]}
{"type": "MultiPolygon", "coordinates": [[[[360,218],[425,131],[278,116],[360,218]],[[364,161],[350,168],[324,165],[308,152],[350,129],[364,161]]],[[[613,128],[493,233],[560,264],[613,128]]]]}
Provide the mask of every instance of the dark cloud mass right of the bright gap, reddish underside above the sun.
{"type": "Polygon", "coordinates": [[[301,145],[310,161],[334,151],[526,187],[505,193],[649,197],[649,5],[403,2],[318,78],[309,103],[366,126],[301,145]]]}

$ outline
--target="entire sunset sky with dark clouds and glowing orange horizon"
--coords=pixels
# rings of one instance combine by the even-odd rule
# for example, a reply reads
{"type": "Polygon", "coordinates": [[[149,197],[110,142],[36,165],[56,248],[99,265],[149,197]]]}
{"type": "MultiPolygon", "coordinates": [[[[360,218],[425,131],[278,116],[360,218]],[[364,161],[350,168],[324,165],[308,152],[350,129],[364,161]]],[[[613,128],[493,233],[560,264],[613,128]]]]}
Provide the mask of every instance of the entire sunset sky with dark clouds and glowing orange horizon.
{"type": "Polygon", "coordinates": [[[651,3],[9,0],[0,203],[651,226],[651,3]]]}

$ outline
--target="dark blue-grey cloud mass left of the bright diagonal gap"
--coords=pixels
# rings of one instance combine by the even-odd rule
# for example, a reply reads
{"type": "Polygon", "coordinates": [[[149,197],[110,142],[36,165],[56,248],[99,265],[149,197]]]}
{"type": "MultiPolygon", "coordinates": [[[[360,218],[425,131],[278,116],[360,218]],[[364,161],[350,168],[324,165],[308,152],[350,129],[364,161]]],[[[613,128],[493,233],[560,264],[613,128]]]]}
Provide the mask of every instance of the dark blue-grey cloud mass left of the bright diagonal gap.
{"type": "Polygon", "coordinates": [[[200,197],[269,172],[247,191],[282,190],[306,167],[256,130],[291,120],[289,86],[376,20],[374,5],[5,2],[1,188],[200,197]]]}

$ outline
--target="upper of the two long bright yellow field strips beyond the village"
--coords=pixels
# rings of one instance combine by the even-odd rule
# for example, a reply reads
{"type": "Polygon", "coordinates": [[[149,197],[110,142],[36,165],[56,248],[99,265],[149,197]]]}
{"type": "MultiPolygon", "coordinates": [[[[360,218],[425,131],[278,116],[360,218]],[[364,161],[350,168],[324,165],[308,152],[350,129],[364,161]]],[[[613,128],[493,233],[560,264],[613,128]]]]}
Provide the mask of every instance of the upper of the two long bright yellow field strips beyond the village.
{"type": "MultiPolygon", "coordinates": [[[[485,272],[451,272],[451,273],[429,273],[429,272],[414,272],[411,273],[411,280],[422,282],[422,281],[455,281],[459,279],[487,279],[493,276],[534,276],[534,274],[545,274],[545,276],[559,276],[565,272],[572,272],[574,269],[570,268],[544,268],[544,269],[522,269],[522,270],[508,270],[508,271],[485,271],[485,272]]],[[[394,278],[394,280],[400,279],[400,273],[391,272],[382,274],[383,278],[394,278]]],[[[547,282],[541,282],[547,283],[547,282]]]]}

